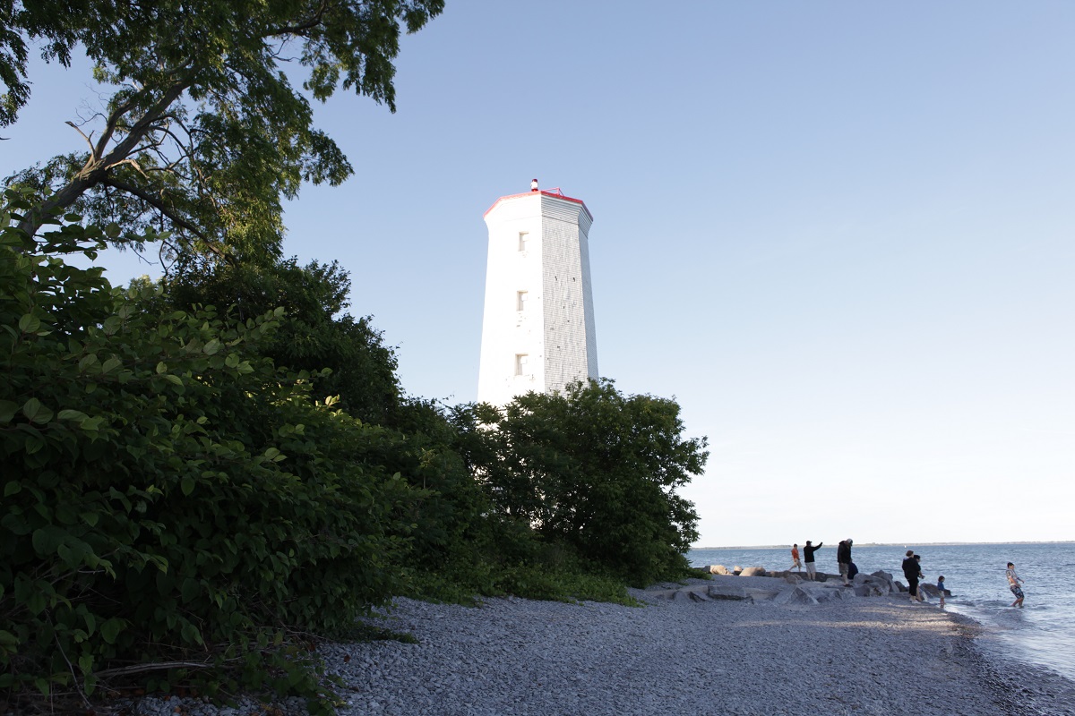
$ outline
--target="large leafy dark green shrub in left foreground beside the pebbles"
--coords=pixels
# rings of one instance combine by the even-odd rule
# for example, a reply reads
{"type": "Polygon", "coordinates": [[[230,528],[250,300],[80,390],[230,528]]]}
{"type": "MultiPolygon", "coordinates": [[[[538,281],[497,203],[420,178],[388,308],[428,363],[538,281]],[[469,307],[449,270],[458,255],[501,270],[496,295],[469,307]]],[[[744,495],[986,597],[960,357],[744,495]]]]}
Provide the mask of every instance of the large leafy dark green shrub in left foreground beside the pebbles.
{"type": "Polygon", "coordinates": [[[117,664],[182,661],[150,686],[194,663],[317,697],[299,638],[404,586],[425,495],[367,461],[393,438],[259,354],[282,310],[159,312],[156,289],[57,255],[103,232],[44,247],[0,219],[0,690],[92,693],[117,664]]]}

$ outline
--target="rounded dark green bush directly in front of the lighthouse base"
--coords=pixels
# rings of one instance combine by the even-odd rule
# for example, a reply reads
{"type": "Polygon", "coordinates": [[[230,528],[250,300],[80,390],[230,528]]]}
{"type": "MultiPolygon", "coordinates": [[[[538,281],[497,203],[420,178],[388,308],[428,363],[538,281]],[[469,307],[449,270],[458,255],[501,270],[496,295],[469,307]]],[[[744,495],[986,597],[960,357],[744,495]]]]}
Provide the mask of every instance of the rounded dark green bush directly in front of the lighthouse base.
{"type": "Polygon", "coordinates": [[[698,515],[676,489],[708,453],[682,437],[674,400],[589,381],[460,411],[457,424],[492,502],[547,542],[640,586],[686,569],[698,515]]]}

